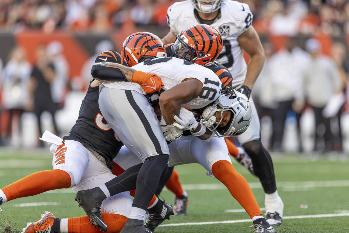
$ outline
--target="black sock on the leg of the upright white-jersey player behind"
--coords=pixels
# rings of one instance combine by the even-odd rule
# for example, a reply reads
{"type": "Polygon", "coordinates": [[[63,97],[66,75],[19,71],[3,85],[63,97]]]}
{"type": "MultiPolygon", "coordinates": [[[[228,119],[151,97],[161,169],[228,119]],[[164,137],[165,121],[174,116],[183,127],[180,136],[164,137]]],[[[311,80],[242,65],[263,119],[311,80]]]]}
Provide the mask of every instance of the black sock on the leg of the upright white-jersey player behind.
{"type": "Polygon", "coordinates": [[[243,145],[250,156],[254,174],[259,178],[264,192],[271,194],[276,191],[275,173],[272,158],[263,147],[261,140],[254,140],[243,145]]]}

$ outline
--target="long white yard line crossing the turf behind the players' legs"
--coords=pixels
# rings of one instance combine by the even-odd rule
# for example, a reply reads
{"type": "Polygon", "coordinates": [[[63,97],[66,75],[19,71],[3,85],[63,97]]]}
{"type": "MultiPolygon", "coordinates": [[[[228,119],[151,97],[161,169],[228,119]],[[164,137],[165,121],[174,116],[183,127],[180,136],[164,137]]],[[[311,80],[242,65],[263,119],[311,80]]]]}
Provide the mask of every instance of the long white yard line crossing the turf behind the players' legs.
{"type": "MultiPolygon", "coordinates": [[[[250,182],[251,189],[262,188],[259,182],[250,182]]],[[[308,191],[312,188],[331,188],[331,187],[349,187],[349,180],[334,180],[334,181],[287,181],[276,182],[278,188],[282,191],[308,191]]],[[[227,189],[224,184],[183,184],[185,190],[221,190],[227,189]]],[[[164,189],[167,190],[167,189],[164,189]]],[[[73,189],[58,189],[45,192],[47,194],[53,193],[75,193],[73,189]]]]}

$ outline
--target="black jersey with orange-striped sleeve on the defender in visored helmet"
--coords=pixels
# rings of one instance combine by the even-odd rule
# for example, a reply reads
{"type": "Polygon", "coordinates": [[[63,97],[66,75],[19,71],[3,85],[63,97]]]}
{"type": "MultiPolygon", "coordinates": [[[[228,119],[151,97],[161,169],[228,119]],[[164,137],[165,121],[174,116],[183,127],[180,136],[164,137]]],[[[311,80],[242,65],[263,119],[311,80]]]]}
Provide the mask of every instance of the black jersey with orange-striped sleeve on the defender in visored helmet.
{"type": "MultiPolygon", "coordinates": [[[[171,50],[171,45],[172,44],[166,44],[165,49],[168,57],[171,57],[173,55],[173,52],[171,50]]],[[[221,63],[214,62],[214,63],[209,63],[208,65],[205,65],[206,68],[209,68],[211,71],[213,71],[218,78],[222,82],[222,86],[227,86],[227,85],[232,85],[232,80],[233,77],[231,73],[223,66],[221,63]]]]}

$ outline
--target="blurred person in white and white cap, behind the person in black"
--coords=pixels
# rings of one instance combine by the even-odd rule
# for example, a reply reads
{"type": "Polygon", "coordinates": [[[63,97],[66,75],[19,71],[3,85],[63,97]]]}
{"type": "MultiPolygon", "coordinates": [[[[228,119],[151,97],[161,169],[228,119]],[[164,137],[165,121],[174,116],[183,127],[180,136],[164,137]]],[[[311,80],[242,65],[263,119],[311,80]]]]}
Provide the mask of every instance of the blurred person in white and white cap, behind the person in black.
{"type": "Polygon", "coordinates": [[[46,48],[47,59],[53,64],[55,77],[51,82],[52,101],[63,107],[64,96],[69,76],[69,66],[65,59],[63,45],[58,41],[52,41],[46,48]]]}

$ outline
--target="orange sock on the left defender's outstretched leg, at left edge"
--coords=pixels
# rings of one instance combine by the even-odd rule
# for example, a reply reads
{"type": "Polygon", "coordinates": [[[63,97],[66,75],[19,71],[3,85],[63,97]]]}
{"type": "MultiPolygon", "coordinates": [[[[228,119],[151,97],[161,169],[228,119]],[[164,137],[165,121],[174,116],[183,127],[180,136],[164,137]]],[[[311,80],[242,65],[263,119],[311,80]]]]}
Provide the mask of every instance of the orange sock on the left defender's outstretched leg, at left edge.
{"type": "Polygon", "coordinates": [[[34,196],[53,189],[69,188],[71,185],[68,173],[59,170],[41,171],[25,176],[1,190],[7,201],[20,197],[34,196]]]}

